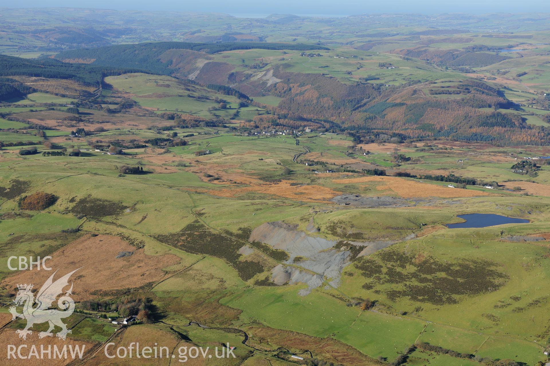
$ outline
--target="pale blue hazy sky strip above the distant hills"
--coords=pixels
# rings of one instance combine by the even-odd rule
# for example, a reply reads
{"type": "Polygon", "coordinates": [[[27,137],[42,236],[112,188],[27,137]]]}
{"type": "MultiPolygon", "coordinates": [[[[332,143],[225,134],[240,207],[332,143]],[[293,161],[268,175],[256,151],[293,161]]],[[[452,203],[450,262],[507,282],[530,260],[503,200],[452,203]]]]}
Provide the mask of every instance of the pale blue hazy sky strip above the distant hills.
{"type": "MultiPolygon", "coordinates": [[[[0,7],[10,7],[0,0],[0,7]]],[[[177,12],[217,12],[233,15],[353,15],[365,13],[516,13],[548,12],[548,0],[26,0],[17,7],[81,7],[116,10],[173,10],[177,12]]]]}

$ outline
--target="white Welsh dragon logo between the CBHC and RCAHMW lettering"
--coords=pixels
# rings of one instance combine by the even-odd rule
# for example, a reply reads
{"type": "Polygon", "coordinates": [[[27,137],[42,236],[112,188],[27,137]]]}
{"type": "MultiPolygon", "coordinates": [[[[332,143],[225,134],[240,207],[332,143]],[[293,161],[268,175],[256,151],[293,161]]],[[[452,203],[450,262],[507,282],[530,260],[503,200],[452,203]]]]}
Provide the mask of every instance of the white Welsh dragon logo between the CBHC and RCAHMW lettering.
{"type": "Polygon", "coordinates": [[[57,306],[64,311],[59,311],[59,309],[50,309],[50,307],[53,305],[53,302],[56,301],[56,297],[63,293],[63,288],[69,285],[69,278],[76,271],[78,271],[78,269],[65,274],[62,278],[56,280],[55,282],[53,281],[53,276],[57,273],[57,271],[54,272],[42,286],[40,291],[38,291],[38,294],[36,295],[36,307],[33,307],[35,304],[34,295],[31,292],[33,285],[17,285],[19,291],[13,301],[15,306],[10,307],[9,312],[12,313],[12,320],[15,320],[15,318],[18,317],[27,320],[25,329],[16,330],[16,333],[19,334],[19,338],[27,339],[27,334],[32,334],[32,330],[29,330],[32,325],[46,322],[50,323],[50,328],[47,331],[41,331],[38,334],[39,339],[47,336],[53,336],[52,330],[56,325],[61,328],[61,331],[56,334],[59,339],[65,340],[67,334],[71,333],[61,319],[69,317],[74,311],[74,301],[69,296],[72,295],[72,282],[70,289],[65,292],[65,295],[59,297],[57,300],[57,306]],[[23,313],[19,314],[16,306],[23,306],[23,313]]]}

